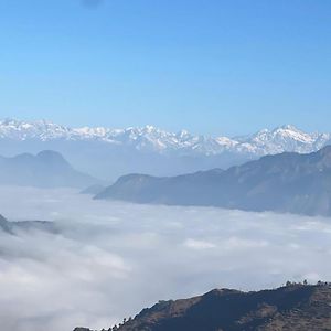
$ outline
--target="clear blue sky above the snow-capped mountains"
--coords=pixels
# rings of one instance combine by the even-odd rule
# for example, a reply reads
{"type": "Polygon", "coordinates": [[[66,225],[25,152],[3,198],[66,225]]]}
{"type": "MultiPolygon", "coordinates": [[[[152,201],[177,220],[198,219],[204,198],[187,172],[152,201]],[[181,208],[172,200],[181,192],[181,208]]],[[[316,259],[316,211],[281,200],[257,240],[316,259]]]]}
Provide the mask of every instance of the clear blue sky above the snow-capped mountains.
{"type": "Polygon", "coordinates": [[[0,0],[0,117],[331,131],[330,0],[0,0]]]}

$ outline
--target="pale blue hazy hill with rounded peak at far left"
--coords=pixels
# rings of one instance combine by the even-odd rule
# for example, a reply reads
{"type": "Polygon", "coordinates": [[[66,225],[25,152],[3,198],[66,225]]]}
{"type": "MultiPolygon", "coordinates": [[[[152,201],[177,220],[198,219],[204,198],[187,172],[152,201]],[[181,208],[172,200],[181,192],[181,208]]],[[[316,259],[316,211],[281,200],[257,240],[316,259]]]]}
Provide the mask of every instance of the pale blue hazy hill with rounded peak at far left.
{"type": "Polygon", "coordinates": [[[98,183],[95,178],[78,172],[57,152],[24,153],[0,157],[0,185],[38,188],[86,188],[98,183]]]}

